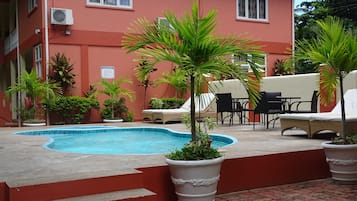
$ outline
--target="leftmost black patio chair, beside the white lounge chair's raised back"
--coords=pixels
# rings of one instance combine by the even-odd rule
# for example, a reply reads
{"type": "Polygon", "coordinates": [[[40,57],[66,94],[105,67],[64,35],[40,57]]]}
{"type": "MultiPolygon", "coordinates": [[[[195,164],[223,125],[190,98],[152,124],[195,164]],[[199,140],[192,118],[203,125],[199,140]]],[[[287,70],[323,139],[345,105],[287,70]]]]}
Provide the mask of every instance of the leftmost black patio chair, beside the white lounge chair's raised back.
{"type": "Polygon", "coordinates": [[[218,93],[216,94],[216,106],[217,115],[216,120],[218,123],[218,115],[220,114],[221,124],[224,123],[225,118],[229,118],[229,125],[233,125],[234,113],[238,114],[238,117],[242,121],[242,106],[240,102],[233,102],[231,93],[218,93]],[[224,117],[223,114],[228,113],[228,116],[224,117]]]}

